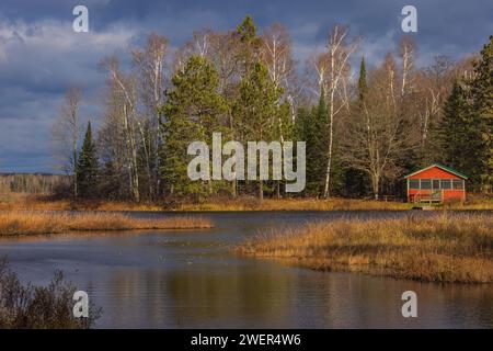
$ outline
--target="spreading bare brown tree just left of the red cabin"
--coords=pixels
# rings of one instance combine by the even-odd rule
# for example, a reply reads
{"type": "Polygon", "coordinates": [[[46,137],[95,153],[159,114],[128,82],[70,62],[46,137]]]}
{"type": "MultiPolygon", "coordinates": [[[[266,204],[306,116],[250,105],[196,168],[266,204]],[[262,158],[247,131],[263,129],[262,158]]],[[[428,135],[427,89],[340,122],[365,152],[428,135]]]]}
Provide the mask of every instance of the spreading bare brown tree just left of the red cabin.
{"type": "Polygon", "coordinates": [[[400,176],[403,156],[416,146],[412,123],[401,111],[397,84],[395,63],[387,55],[382,67],[371,75],[364,105],[352,113],[342,143],[343,159],[369,176],[376,200],[382,178],[400,176]]]}

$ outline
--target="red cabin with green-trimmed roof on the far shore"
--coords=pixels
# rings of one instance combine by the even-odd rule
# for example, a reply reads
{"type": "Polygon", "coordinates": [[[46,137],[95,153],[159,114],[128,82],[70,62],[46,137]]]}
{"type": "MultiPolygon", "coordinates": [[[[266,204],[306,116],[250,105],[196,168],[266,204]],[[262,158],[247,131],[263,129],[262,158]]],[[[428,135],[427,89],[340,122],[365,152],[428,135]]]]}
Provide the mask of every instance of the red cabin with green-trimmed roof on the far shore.
{"type": "Polygon", "coordinates": [[[442,203],[450,200],[466,200],[465,174],[434,163],[405,176],[408,180],[408,201],[412,203],[442,203]]]}

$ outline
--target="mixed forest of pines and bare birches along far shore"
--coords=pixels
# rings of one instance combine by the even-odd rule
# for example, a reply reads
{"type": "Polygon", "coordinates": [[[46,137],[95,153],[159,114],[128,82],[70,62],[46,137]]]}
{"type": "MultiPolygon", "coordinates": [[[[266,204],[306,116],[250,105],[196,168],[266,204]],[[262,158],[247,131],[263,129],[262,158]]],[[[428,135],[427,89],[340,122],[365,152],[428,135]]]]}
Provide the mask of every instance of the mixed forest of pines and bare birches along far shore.
{"type": "Polygon", "coordinates": [[[176,50],[152,33],[128,57],[103,57],[100,116],[81,116],[71,87],[53,128],[54,154],[74,199],[203,201],[217,196],[404,197],[403,176],[433,162],[493,185],[493,36],[459,60],[417,66],[410,35],[367,65],[364,38],[336,24],[306,63],[282,24],[246,15],[226,32],[200,30],[176,50]],[[122,61],[131,60],[131,67],[122,61]],[[85,117],[85,120],[83,118],[85,117]],[[88,125],[81,121],[92,120],[88,125]],[[94,123],[98,120],[98,123],[94,123]],[[96,129],[93,126],[98,125],[96,129]],[[228,140],[306,141],[306,189],[283,180],[191,181],[187,146],[228,140]]]}

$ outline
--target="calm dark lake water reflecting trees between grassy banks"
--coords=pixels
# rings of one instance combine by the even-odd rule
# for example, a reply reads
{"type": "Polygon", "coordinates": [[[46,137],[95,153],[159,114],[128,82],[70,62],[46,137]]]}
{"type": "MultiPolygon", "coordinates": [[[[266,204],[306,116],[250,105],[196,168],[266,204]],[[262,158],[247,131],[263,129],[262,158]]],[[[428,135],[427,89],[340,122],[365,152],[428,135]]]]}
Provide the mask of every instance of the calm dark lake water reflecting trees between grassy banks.
{"type": "Polygon", "coordinates": [[[35,284],[62,270],[103,307],[99,328],[493,328],[491,285],[314,272],[230,251],[270,227],[406,214],[190,214],[211,218],[215,228],[1,240],[0,257],[8,256],[20,278],[35,284]],[[409,290],[417,294],[417,318],[401,315],[401,294],[409,290]]]}

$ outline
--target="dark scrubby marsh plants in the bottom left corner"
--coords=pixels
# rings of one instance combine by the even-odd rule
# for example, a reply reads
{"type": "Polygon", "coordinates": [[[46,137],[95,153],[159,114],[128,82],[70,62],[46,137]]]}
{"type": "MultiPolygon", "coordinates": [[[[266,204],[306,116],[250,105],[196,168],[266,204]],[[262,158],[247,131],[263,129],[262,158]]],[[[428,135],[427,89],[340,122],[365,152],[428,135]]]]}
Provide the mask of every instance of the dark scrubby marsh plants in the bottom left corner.
{"type": "Polygon", "coordinates": [[[0,329],[88,329],[102,314],[89,305],[89,317],[73,317],[76,286],[61,271],[47,286],[22,284],[5,260],[0,261],[0,329]]]}

